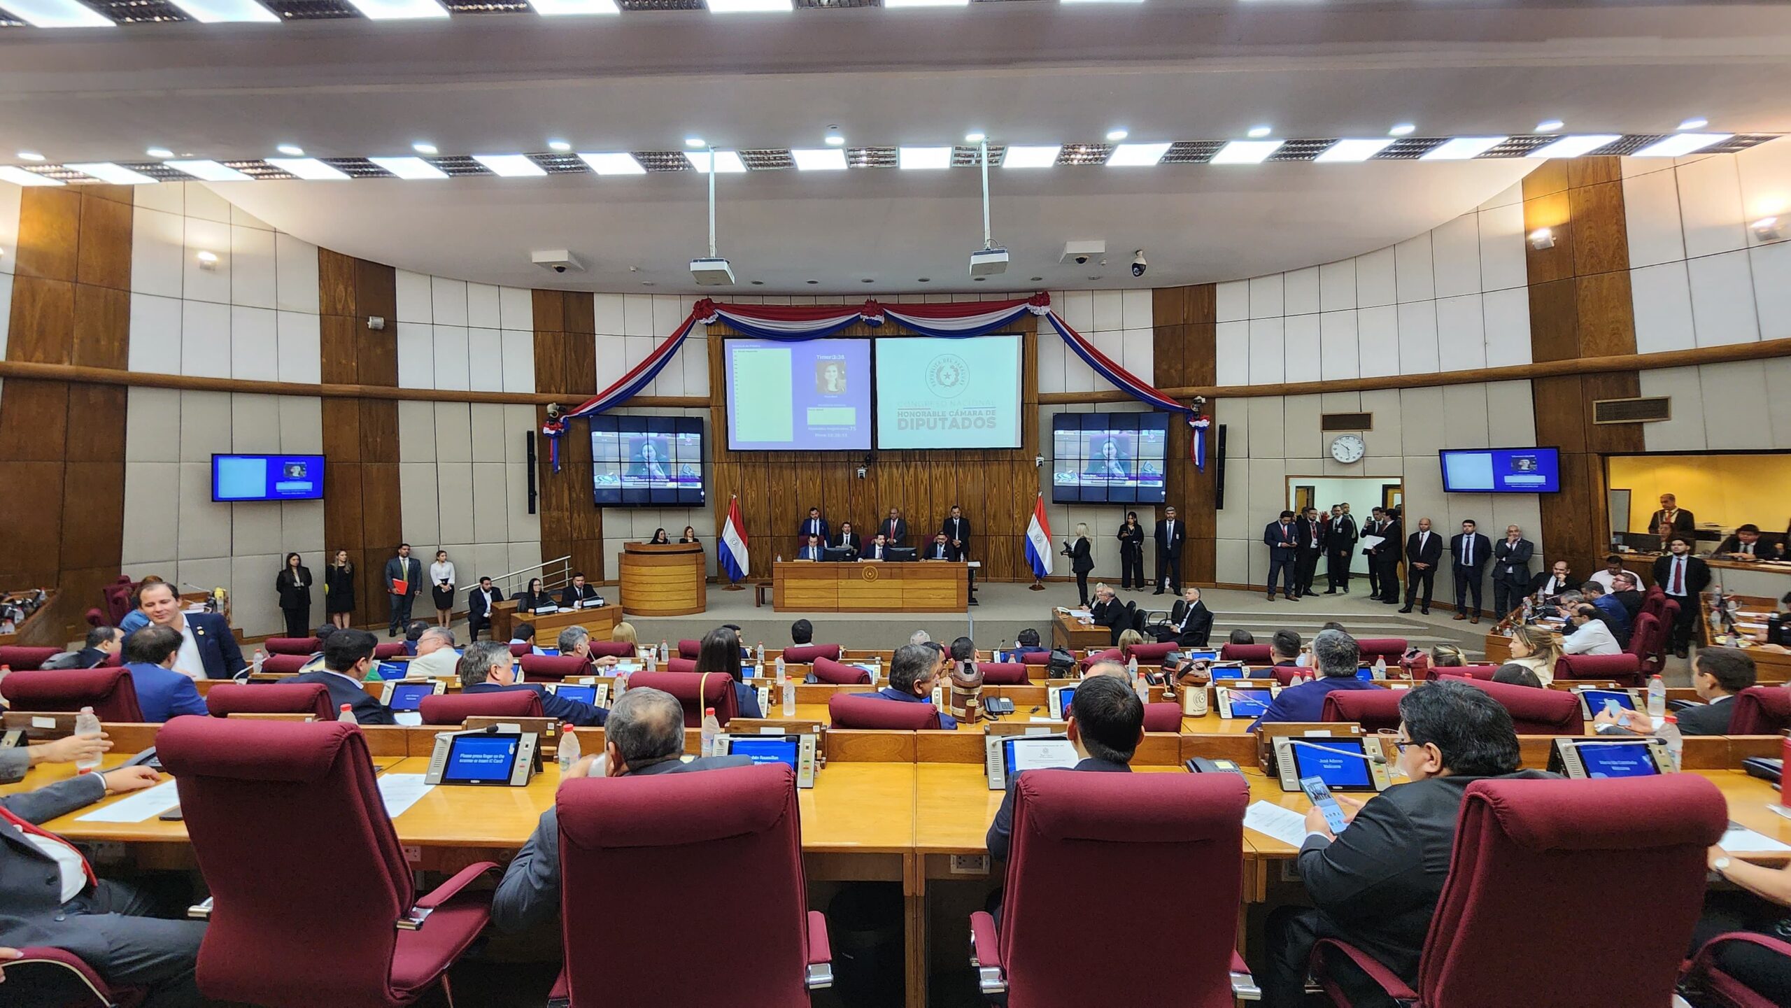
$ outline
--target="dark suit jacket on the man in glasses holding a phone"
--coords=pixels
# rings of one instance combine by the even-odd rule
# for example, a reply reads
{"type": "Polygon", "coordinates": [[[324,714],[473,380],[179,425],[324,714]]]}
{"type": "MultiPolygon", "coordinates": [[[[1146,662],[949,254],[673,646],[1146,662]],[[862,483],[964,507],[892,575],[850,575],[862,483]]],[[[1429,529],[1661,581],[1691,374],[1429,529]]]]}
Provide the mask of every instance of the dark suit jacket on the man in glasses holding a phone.
{"type": "MultiPolygon", "coordinates": [[[[1519,770],[1513,777],[1551,775],[1519,770]]],[[[1307,836],[1298,867],[1318,908],[1318,936],[1341,938],[1415,985],[1418,951],[1449,876],[1461,795],[1483,779],[1401,784],[1368,799],[1336,840],[1307,836]]]]}

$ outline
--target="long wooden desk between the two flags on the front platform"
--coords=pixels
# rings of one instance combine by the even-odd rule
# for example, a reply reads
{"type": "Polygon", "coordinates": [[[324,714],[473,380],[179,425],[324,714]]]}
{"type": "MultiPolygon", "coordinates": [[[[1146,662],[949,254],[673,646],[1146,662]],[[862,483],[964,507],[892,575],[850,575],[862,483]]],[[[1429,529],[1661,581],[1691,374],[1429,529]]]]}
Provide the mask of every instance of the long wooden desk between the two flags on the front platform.
{"type": "Polygon", "coordinates": [[[779,612],[964,612],[969,605],[965,564],[772,564],[772,607],[779,612]]]}

